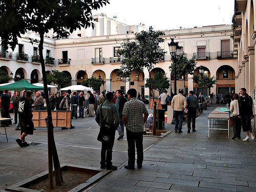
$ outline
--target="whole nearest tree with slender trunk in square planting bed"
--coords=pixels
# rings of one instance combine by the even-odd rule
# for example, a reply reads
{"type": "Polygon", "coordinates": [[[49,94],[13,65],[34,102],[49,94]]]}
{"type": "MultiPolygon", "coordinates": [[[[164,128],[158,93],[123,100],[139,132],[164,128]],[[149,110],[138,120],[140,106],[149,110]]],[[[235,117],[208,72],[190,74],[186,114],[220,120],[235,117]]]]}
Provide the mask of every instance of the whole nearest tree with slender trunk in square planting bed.
{"type": "MultiPolygon", "coordinates": [[[[103,5],[109,4],[109,0],[16,0],[0,2],[0,37],[5,49],[8,46],[15,49],[18,44],[20,34],[34,31],[39,34],[39,56],[42,68],[42,78],[44,79],[44,90],[47,104],[47,127],[48,127],[48,161],[49,161],[49,188],[53,186],[53,166],[55,167],[55,180],[57,185],[63,182],[60,172],[57,150],[53,137],[52,114],[50,109],[49,94],[47,89],[47,79],[45,70],[45,60],[42,54],[44,35],[50,29],[58,37],[67,37],[70,32],[76,29],[94,27],[92,10],[99,9],[103,5]],[[54,152],[53,152],[54,151],[54,152]]],[[[31,42],[37,41],[31,39],[31,42]]]]}

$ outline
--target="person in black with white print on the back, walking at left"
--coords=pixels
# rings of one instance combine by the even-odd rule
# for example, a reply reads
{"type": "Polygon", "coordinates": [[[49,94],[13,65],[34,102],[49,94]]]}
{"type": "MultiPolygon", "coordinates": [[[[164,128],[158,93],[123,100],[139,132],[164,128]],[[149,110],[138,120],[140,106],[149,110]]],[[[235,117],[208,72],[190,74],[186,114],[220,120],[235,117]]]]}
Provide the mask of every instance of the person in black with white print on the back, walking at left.
{"type": "Polygon", "coordinates": [[[20,147],[29,146],[29,144],[25,141],[25,137],[27,135],[33,135],[34,133],[34,123],[32,121],[32,103],[30,101],[32,92],[27,91],[25,93],[25,97],[22,97],[19,101],[18,105],[18,117],[21,134],[16,142],[20,147]]]}

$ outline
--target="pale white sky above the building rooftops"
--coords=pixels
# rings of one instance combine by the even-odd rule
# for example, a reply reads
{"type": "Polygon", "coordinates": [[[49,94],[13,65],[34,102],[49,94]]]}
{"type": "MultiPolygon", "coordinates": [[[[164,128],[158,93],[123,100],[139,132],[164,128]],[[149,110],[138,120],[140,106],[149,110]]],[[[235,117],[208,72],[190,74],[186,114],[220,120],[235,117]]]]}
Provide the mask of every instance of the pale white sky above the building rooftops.
{"type": "Polygon", "coordinates": [[[154,30],[231,25],[234,0],[110,0],[93,15],[104,13],[127,25],[154,30]]]}

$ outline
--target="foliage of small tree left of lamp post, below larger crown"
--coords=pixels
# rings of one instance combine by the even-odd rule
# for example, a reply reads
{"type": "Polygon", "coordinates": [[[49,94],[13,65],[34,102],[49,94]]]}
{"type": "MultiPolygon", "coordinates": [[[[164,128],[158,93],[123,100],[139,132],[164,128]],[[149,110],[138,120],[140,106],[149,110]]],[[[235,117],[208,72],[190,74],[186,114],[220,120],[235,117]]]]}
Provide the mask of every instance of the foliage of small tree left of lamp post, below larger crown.
{"type": "MultiPolygon", "coordinates": [[[[163,89],[168,89],[170,87],[170,83],[168,78],[165,76],[163,72],[156,72],[154,77],[152,78],[153,89],[157,90],[160,94],[160,91],[163,89]]],[[[146,88],[150,88],[151,90],[151,82],[150,79],[146,79],[146,88]]]]}

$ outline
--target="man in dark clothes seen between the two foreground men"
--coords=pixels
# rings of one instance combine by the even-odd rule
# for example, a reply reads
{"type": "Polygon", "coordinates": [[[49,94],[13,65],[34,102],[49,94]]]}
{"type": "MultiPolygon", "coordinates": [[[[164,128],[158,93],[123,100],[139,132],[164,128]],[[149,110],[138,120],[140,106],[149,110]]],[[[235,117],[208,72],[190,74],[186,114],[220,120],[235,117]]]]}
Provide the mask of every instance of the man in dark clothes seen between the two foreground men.
{"type": "Polygon", "coordinates": [[[116,105],[116,107],[118,109],[118,113],[119,113],[119,126],[117,128],[119,137],[117,138],[117,140],[120,140],[124,136],[123,106],[124,106],[124,103],[126,102],[126,100],[125,100],[121,90],[116,91],[116,96],[117,96],[117,99],[116,99],[115,105],[116,105]]]}

